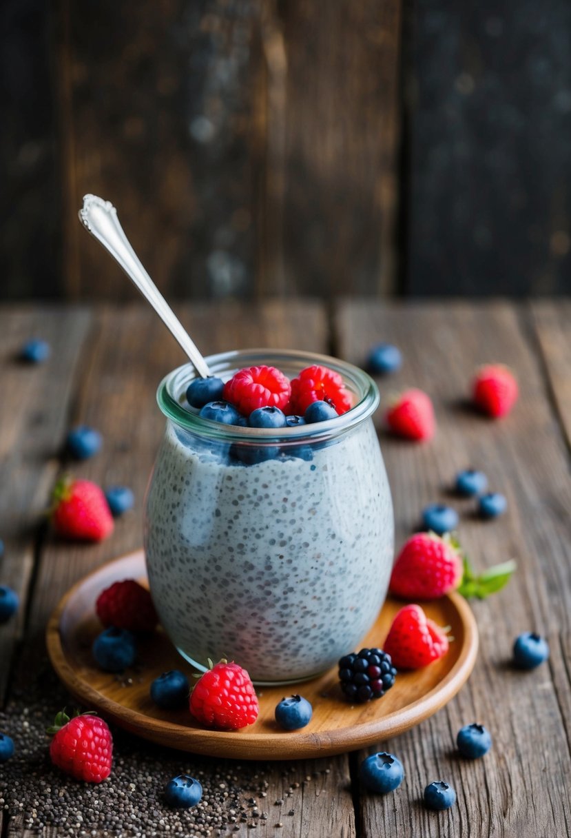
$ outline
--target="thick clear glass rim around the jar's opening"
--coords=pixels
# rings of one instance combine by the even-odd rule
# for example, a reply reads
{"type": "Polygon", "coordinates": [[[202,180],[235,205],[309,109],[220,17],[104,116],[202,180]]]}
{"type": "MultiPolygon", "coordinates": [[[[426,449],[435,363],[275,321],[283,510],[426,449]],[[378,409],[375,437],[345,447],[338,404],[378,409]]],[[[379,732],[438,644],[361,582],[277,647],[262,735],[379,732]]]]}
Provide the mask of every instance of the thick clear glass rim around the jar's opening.
{"type": "Polygon", "coordinates": [[[358,394],[358,401],[341,416],[311,425],[277,429],[224,425],[221,422],[205,419],[198,413],[192,413],[183,407],[182,401],[186,396],[187,387],[193,379],[198,377],[192,364],[184,364],[162,379],[157,388],[157,403],[167,419],[175,422],[178,427],[203,437],[245,443],[288,442],[290,440],[297,442],[304,439],[311,439],[313,442],[329,439],[368,419],[380,401],[378,387],[370,375],[347,361],[329,355],[303,352],[298,349],[232,349],[229,352],[208,355],[205,360],[213,375],[221,377],[224,377],[224,372],[230,372],[233,375],[235,370],[248,366],[266,364],[280,368],[280,360],[298,364],[300,369],[313,364],[324,365],[343,376],[353,394],[358,394]]]}

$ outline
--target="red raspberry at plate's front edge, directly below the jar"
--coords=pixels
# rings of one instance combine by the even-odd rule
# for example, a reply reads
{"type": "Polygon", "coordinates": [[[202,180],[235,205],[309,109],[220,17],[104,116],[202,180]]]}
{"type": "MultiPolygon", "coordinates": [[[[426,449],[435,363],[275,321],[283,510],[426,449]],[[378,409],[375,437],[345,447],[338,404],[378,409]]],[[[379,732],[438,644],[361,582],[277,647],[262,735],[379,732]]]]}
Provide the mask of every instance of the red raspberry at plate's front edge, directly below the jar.
{"type": "Polygon", "coordinates": [[[246,670],[221,660],[200,676],[190,694],[190,711],[206,727],[238,730],[258,718],[258,698],[246,670]]]}

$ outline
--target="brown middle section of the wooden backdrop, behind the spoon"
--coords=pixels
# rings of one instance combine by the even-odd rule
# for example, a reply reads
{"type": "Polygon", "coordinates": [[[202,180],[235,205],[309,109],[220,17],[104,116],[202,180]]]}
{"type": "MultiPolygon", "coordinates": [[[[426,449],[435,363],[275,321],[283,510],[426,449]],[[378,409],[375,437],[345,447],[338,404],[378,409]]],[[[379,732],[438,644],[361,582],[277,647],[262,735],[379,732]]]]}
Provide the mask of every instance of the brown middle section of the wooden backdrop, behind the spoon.
{"type": "Polygon", "coordinates": [[[67,297],[133,298],[86,192],[168,297],[394,290],[399,0],[57,6],[67,297]]]}

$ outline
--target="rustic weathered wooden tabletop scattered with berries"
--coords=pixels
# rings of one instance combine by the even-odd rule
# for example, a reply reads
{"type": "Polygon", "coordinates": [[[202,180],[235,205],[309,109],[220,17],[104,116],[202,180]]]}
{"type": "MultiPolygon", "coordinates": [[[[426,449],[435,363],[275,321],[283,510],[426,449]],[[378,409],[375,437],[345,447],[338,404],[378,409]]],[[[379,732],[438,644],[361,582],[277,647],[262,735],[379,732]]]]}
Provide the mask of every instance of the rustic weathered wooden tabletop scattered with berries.
{"type": "MultiPolygon", "coordinates": [[[[380,431],[394,494],[397,545],[418,525],[424,504],[448,499],[460,510],[461,540],[478,568],[507,558],[518,565],[507,589],[472,603],[481,649],[468,684],[419,727],[378,743],[376,749],[388,748],[404,764],[406,777],[396,793],[363,793],[358,764],[366,753],[260,763],[255,776],[263,777],[265,796],[256,796],[255,802],[268,817],[252,817],[247,808],[252,786],[244,782],[250,814],[229,826],[231,834],[251,835],[257,824],[262,835],[282,838],[568,835],[571,303],[358,300],[341,301],[331,313],[304,300],[244,308],[231,303],[180,306],[178,311],[204,353],[248,345],[296,347],[362,364],[374,341],[398,344],[404,366],[380,382],[382,397],[404,385],[419,385],[434,399],[439,427],[427,445],[399,442],[380,431]],[[502,422],[476,416],[463,401],[472,370],[485,361],[511,365],[520,381],[521,399],[502,422]],[[450,497],[452,478],[469,465],[485,470],[491,487],[507,495],[509,509],[502,519],[483,523],[470,500],[450,497]],[[513,638],[527,629],[545,635],[551,649],[548,664],[532,674],[513,670],[509,663],[513,638]],[[494,747],[486,758],[469,762],[455,755],[455,733],[474,721],[488,727],[494,747]],[[424,809],[421,795],[425,784],[440,778],[454,785],[458,800],[437,814],[424,809]],[[276,799],[285,799],[284,806],[275,807],[276,799]],[[290,806],[292,815],[286,811],[290,806]]],[[[0,309],[0,535],[6,543],[0,580],[15,587],[23,601],[18,617],[0,629],[0,694],[8,713],[18,701],[25,702],[31,673],[41,667],[44,627],[59,597],[90,569],[141,545],[142,498],[163,423],[155,390],[162,375],[181,362],[177,345],[142,305],[0,309]],[[48,363],[26,367],[14,360],[31,335],[51,344],[48,363]],[[39,523],[55,478],[69,465],[60,456],[65,433],[79,422],[99,428],[105,446],[95,458],[73,464],[73,472],[100,484],[129,484],[136,494],[135,513],[119,520],[111,539],[98,546],[63,545],[39,523]]],[[[147,744],[131,742],[130,747],[142,754],[147,744]]],[[[121,756],[120,747],[116,750],[121,756]]],[[[38,783],[49,771],[43,745],[40,753],[29,766],[38,783]]],[[[172,760],[172,753],[153,753],[160,773],[162,760],[172,760]]],[[[26,766],[19,764],[21,778],[26,766]]],[[[181,764],[198,767],[207,779],[220,770],[218,762],[188,755],[181,764]]],[[[11,784],[9,766],[4,765],[7,788],[0,810],[3,838],[25,835],[33,824],[28,809],[34,801],[20,799],[23,780],[18,787],[11,784]]],[[[251,778],[251,771],[245,764],[235,767],[238,785],[241,773],[251,778]]],[[[158,800],[160,810],[160,795],[158,800]]],[[[100,821],[100,830],[86,834],[109,830],[109,818],[100,815],[100,821]]],[[[204,822],[197,835],[209,834],[204,822]]],[[[137,829],[141,834],[143,826],[135,824],[137,829]]],[[[158,821],[157,830],[162,834],[158,821]]],[[[44,828],[44,835],[63,834],[81,834],[80,825],[44,828]]]]}

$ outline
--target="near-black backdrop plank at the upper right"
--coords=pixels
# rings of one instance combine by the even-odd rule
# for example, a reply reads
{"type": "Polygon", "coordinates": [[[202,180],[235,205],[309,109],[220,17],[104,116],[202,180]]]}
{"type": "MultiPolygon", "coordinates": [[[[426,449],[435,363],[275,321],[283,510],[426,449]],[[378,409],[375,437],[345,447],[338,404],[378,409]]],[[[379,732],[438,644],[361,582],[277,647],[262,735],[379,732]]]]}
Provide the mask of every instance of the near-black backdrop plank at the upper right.
{"type": "Polygon", "coordinates": [[[412,295],[568,293],[571,8],[409,5],[412,295]]]}

